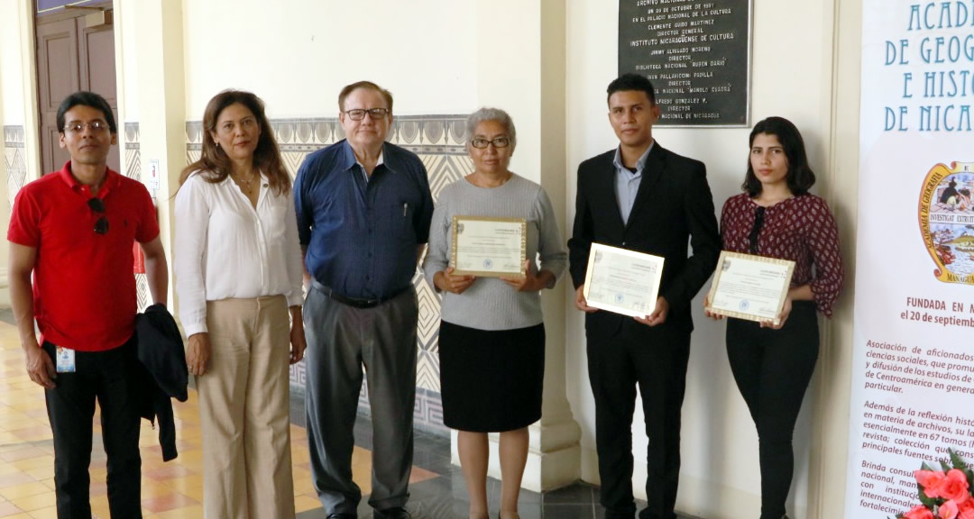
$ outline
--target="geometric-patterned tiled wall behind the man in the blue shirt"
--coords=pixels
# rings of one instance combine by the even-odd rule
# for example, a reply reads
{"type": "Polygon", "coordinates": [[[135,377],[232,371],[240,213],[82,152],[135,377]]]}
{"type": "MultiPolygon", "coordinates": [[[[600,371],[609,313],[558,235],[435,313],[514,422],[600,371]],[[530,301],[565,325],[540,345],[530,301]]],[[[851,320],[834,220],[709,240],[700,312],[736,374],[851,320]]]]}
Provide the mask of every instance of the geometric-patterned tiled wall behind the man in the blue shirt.
{"type": "MultiPolygon", "coordinates": [[[[466,121],[466,115],[396,116],[394,119],[389,140],[417,154],[423,161],[430,174],[434,201],[446,185],[472,170],[466,149],[466,121]]],[[[345,138],[337,118],[279,119],[271,121],[271,127],[277,136],[285,167],[292,176],[310,153],[345,138]]],[[[202,131],[201,122],[186,124],[188,163],[200,158],[202,131]]],[[[440,297],[419,273],[413,278],[413,284],[419,296],[414,419],[416,426],[445,434],[437,352],[440,297]]],[[[290,369],[292,386],[304,389],[304,362],[290,369]]],[[[367,409],[368,390],[364,383],[358,403],[367,409]]]]}

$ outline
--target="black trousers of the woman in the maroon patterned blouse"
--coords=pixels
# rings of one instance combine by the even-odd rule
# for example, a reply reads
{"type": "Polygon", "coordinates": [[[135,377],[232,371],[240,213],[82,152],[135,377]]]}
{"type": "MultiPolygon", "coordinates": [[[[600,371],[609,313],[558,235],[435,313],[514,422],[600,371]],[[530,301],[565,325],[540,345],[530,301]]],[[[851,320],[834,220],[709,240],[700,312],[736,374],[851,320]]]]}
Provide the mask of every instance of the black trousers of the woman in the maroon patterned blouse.
{"type": "Polygon", "coordinates": [[[792,434],[818,359],[814,303],[798,301],[780,330],[728,319],[728,358],[758,427],[761,518],[780,519],[795,470],[792,434]]]}

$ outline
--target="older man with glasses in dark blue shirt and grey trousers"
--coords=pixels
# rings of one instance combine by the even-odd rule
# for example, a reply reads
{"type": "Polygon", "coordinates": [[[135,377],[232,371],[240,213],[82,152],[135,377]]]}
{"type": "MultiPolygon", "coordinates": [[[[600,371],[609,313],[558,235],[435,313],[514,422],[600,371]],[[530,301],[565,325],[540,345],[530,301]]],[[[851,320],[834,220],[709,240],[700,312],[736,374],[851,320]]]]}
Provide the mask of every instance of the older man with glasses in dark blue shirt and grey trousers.
{"type": "Polygon", "coordinates": [[[385,141],[391,93],[359,82],[342,90],[338,104],[346,140],[310,155],[294,188],[312,288],[304,307],[312,475],[329,518],[356,517],[353,426],[364,366],[374,452],[369,504],[376,519],[398,519],[409,517],[412,278],[430,232],[430,184],[419,157],[385,141]]]}

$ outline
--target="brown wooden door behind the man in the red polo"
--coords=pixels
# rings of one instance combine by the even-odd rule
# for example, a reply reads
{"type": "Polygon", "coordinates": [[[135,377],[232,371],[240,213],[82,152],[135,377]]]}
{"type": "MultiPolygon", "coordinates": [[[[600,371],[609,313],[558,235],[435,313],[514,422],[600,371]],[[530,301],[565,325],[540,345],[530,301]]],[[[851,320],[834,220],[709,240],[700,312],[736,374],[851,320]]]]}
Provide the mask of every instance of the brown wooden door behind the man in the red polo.
{"type": "MultiPolygon", "coordinates": [[[[110,4],[108,7],[111,7],[110,4]]],[[[77,91],[101,94],[112,107],[119,132],[115,81],[115,35],[111,24],[88,27],[91,12],[60,13],[37,19],[37,90],[40,102],[41,167],[56,171],[71,157],[58,145],[57,107],[77,91]]],[[[121,144],[121,137],[119,135],[121,144]]],[[[108,167],[119,170],[119,146],[108,154],[108,167]]]]}

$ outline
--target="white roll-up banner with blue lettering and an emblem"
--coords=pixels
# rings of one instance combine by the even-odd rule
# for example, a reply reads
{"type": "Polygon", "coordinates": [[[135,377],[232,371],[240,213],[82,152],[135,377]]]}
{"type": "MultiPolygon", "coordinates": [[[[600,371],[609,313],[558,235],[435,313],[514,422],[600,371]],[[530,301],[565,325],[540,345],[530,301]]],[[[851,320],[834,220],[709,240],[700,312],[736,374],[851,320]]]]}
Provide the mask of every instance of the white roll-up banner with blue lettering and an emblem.
{"type": "Polygon", "coordinates": [[[974,462],[972,105],[974,0],[863,0],[848,518],[974,462]]]}

